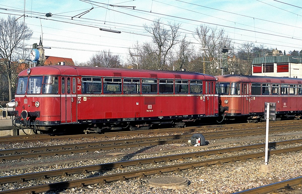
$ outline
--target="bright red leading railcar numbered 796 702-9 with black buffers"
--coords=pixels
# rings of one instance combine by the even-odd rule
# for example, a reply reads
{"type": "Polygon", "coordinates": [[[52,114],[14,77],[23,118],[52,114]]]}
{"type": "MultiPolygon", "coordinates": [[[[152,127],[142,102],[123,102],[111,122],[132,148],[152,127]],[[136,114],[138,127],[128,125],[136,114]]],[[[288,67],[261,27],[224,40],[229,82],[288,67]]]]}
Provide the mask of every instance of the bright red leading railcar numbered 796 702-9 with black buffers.
{"type": "Polygon", "coordinates": [[[39,66],[18,75],[16,109],[4,116],[40,130],[182,127],[218,116],[215,82],[193,72],[39,66]]]}

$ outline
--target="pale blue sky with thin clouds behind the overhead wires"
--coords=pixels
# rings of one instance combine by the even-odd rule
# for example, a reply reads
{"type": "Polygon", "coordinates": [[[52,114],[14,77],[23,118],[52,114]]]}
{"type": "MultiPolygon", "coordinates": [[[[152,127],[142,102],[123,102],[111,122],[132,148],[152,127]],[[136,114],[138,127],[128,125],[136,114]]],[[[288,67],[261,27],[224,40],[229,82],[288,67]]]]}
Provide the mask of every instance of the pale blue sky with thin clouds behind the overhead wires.
{"type": "Polygon", "coordinates": [[[287,53],[302,50],[300,0],[2,0],[0,17],[20,17],[24,2],[25,22],[34,32],[26,48],[39,43],[42,36],[43,45],[52,47],[45,50],[45,55],[78,62],[86,62],[103,50],[125,60],[133,44],[151,40],[143,25],[150,25],[156,18],[165,24],[180,23],[182,36],[186,34],[197,49],[200,45],[192,33],[200,24],[207,24],[223,28],[234,40],[235,48],[243,42],[253,42],[287,53]],[[53,15],[46,17],[46,13],[53,15]]]}

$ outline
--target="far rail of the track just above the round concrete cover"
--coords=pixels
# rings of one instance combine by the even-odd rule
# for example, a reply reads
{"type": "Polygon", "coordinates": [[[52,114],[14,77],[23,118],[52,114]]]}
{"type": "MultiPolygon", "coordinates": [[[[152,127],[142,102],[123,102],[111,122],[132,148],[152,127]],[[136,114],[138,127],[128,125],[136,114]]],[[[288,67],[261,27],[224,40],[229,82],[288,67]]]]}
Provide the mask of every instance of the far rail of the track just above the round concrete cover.
{"type": "MultiPolygon", "coordinates": [[[[278,142],[271,142],[269,146],[279,146],[279,145],[286,145],[286,144],[294,144],[300,143],[302,139],[295,139],[295,140],[287,140],[287,141],[278,141],[278,142]]],[[[13,183],[17,181],[28,181],[33,179],[39,178],[49,178],[54,176],[67,176],[70,174],[77,174],[77,173],[87,173],[92,171],[98,170],[106,170],[106,169],[113,169],[119,167],[129,167],[129,166],[136,166],[142,164],[149,164],[149,163],[158,163],[158,162],[165,162],[171,160],[180,160],[180,159],[188,159],[192,157],[201,157],[201,156],[209,156],[214,154],[221,154],[221,153],[230,153],[242,150],[251,150],[251,149],[259,149],[265,147],[265,144],[254,144],[254,145],[247,145],[247,146],[237,146],[237,147],[229,147],[229,148],[222,148],[222,149],[215,149],[215,150],[206,150],[206,151],[198,151],[198,152],[191,152],[191,153],[184,153],[184,154],[174,154],[169,156],[160,156],[160,157],[153,157],[153,158],[144,158],[144,159],[137,159],[137,160],[130,160],[130,161],[120,161],[120,162],[113,162],[113,163],[105,163],[105,164],[97,164],[97,165],[90,165],[84,167],[74,167],[74,168],[66,168],[60,170],[50,170],[44,172],[37,172],[37,173],[28,173],[28,174],[21,174],[21,175],[13,175],[13,176],[3,176],[0,177],[0,184],[5,183],[13,183]]],[[[271,150],[270,150],[271,152],[271,150]]],[[[128,154],[128,156],[135,155],[135,154],[128,154]]]]}

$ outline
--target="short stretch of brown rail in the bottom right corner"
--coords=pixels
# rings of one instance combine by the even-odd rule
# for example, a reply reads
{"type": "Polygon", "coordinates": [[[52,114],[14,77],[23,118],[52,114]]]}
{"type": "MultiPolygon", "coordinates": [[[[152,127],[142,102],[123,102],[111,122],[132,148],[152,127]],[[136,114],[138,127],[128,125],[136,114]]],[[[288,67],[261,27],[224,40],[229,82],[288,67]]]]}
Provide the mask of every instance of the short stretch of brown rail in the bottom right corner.
{"type": "Polygon", "coordinates": [[[292,186],[301,185],[302,184],[302,176],[296,177],[293,179],[288,179],[284,181],[280,181],[278,183],[271,183],[268,185],[247,189],[244,191],[236,192],[233,194],[245,194],[245,193],[257,193],[257,194],[265,194],[274,192],[276,193],[277,190],[281,189],[290,189],[292,186]]]}

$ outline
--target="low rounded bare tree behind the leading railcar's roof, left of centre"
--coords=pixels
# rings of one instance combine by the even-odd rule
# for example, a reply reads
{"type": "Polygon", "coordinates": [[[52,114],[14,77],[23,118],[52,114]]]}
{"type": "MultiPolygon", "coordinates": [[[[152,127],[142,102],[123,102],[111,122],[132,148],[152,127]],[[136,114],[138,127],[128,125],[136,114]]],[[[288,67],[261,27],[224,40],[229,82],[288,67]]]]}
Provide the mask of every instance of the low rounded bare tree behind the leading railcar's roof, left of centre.
{"type": "Polygon", "coordinates": [[[122,68],[119,55],[113,55],[110,50],[93,54],[86,66],[122,68]]]}

